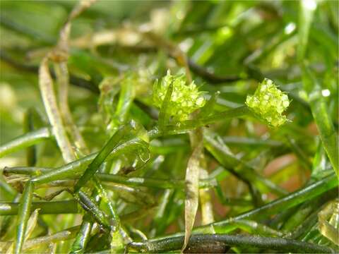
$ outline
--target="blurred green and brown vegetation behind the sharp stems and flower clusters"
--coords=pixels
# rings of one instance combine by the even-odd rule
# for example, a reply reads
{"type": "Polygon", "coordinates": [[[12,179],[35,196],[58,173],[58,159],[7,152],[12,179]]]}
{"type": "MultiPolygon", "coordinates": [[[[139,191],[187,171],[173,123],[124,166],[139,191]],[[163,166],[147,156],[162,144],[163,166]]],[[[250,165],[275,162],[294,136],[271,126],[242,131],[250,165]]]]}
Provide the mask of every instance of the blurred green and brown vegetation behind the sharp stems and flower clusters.
{"type": "MultiPolygon", "coordinates": [[[[290,122],[280,128],[268,128],[251,116],[210,126],[210,131],[222,138],[235,158],[280,186],[283,193],[328,175],[333,169],[319,138],[297,56],[299,50],[305,51],[304,59],[320,85],[316,96],[326,102],[328,116],[338,130],[339,2],[304,2],[316,6],[311,21],[301,15],[301,1],[97,1],[72,21],[68,60],[69,107],[90,152],[99,150],[121,123],[122,113],[117,112],[121,80],[134,80],[133,97],[129,98],[133,102],[124,117],[136,119],[147,130],[155,125],[153,83],[167,69],[185,73],[177,53],[183,52],[192,78],[200,90],[206,91],[206,97],[220,91],[215,111],[242,106],[246,95],[252,94],[263,78],[274,80],[292,99],[287,111],[290,122]],[[309,22],[308,41],[303,45],[299,37],[304,35],[300,31],[307,29],[302,26],[309,22]],[[105,90],[102,80],[107,78],[113,81],[105,90]]],[[[35,111],[32,117],[36,129],[48,125],[37,71],[42,58],[57,44],[59,31],[75,4],[76,1],[0,1],[0,145],[25,132],[24,119],[29,110],[35,111]]],[[[153,140],[150,151],[152,162],[131,176],[184,179],[191,155],[186,135],[153,140]]],[[[120,164],[114,162],[112,171],[119,167],[128,173],[131,163],[131,158],[120,164]]],[[[1,168],[25,164],[25,150],[0,160],[1,168]]],[[[54,140],[37,145],[36,167],[63,164],[54,140]]],[[[214,221],[255,208],[246,184],[222,170],[227,163],[221,165],[209,151],[206,165],[209,177],[217,181],[208,191],[214,221]]],[[[6,185],[4,179],[1,184],[6,185]]],[[[0,200],[10,202],[16,191],[8,186],[3,188],[0,200]]],[[[114,197],[119,215],[126,217],[122,223],[134,239],[141,238],[137,229],[149,238],[184,231],[183,190],[136,190],[140,193],[114,197]],[[134,213],[129,216],[131,212],[134,213]],[[143,218],[138,219],[139,215],[143,218]]],[[[56,199],[69,199],[68,195],[64,193],[56,199]]],[[[261,201],[267,203],[278,196],[262,191],[261,201]]],[[[320,202],[319,207],[324,203],[320,202]]],[[[319,207],[312,207],[309,214],[319,212],[319,207]]],[[[298,211],[295,208],[293,212],[298,211]]],[[[196,226],[201,224],[201,216],[199,210],[196,226]]],[[[81,215],[41,215],[32,236],[52,234],[78,224],[81,215]]],[[[270,226],[285,229],[281,224],[270,226]]],[[[295,229],[299,224],[286,229],[295,229]]],[[[309,231],[311,236],[304,232],[299,239],[334,246],[319,233],[316,222],[309,231]]],[[[14,226],[9,227],[1,241],[13,240],[14,232],[14,226]]],[[[57,252],[68,252],[72,243],[58,243],[57,252]]],[[[101,249],[92,244],[89,250],[101,249]]]]}

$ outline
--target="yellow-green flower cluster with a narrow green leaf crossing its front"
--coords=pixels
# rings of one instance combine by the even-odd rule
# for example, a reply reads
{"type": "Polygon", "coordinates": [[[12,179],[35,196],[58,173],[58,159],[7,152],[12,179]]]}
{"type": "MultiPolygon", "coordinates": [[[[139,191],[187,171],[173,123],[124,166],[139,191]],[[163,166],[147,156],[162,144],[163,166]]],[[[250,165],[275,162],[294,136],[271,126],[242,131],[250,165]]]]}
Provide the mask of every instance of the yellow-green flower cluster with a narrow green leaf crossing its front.
{"type": "Polygon", "coordinates": [[[173,92],[167,110],[169,116],[172,116],[173,119],[184,121],[188,119],[189,114],[203,107],[206,103],[203,92],[199,92],[194,82],[186,85],[184,75],[171,75],[167,71],[167,75],[162,80],[157,81],[153,87],[153,102],[156,107],[162,107],[162,102],[164,102],[167,89],[171,83],[173,83],[173,92]]]}

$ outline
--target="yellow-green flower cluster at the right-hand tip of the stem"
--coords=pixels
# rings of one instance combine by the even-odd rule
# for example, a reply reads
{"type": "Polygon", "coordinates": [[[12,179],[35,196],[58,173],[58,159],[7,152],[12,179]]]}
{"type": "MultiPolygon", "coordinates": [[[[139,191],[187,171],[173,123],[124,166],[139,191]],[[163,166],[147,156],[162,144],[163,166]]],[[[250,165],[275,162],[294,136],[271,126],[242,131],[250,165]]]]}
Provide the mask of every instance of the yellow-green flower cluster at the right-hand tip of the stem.
{"type": "Polygon", "coordinates": [[[246,105],[270,126],[278,127],[287,121],[283,111],[290,105],[290,100],[272,80],[265,78],[254,95],[247,95],[246,105]]]}

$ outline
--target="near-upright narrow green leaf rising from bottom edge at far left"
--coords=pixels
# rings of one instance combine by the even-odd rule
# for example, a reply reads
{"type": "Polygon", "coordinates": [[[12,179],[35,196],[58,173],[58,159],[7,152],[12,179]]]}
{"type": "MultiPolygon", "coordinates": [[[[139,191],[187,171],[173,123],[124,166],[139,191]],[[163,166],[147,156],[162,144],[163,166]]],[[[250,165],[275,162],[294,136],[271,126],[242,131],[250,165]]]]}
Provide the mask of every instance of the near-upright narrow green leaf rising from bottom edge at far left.
{"type": "Polygon", "coordinates": [[[20,198],[18,210],[18,225],[16,228],[16,242],[14,243],[14,252],[19,254],[25,241],[25,231],[30,217],[30,207],[32,206],[33,183],[28,181],[20,198]]]}

